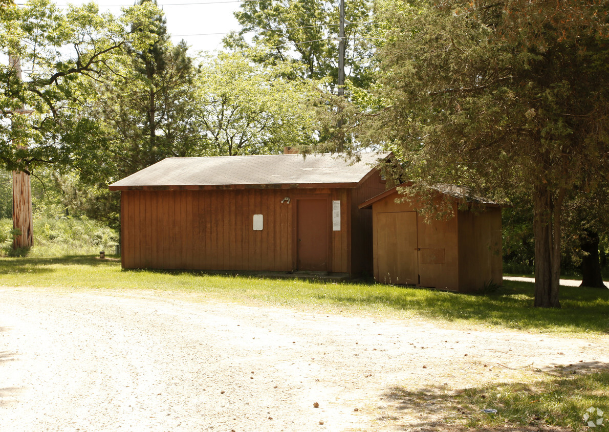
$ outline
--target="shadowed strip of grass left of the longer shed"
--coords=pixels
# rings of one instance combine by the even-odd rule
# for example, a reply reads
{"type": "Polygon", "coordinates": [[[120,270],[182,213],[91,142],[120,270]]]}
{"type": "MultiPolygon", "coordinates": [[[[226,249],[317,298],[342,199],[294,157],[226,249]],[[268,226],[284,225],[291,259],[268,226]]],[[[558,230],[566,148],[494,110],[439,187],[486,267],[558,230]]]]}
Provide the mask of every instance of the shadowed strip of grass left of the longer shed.
{"type": "Polygon", "coordinates": [[[120,266],[121,261],[108,257],[100,260],[96,255],[69,255],[65,257],[22,257],[22,258],[0,258],[0,274],[9,273],[46,273],[53,270],[49,267],[53,264],[62,266],[120,266]]]}

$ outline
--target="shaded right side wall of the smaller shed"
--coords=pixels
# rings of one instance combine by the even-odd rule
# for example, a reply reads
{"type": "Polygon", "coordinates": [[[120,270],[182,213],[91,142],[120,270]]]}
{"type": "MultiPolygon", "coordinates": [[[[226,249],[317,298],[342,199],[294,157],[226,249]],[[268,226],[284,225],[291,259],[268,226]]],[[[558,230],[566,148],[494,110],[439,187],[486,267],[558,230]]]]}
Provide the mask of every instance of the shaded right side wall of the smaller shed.
{"type": "Polygon", "coordinates": [[[501,285],[501,208],[459,211],[459,251],[460,291],[476,291],[491,281],[501,285]]]}

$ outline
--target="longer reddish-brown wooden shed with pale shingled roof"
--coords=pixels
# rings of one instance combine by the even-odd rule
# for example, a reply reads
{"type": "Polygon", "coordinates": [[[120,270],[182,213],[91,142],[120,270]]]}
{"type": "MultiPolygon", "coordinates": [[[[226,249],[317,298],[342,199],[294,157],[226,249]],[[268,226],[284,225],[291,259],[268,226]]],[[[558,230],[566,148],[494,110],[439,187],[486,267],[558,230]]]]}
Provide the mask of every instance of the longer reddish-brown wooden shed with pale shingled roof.
{"type": "Polygon", "coordinates": [[[167,158],[121,191],[125,269],[372,271],[372,218],[387,154],[167,158]]]}

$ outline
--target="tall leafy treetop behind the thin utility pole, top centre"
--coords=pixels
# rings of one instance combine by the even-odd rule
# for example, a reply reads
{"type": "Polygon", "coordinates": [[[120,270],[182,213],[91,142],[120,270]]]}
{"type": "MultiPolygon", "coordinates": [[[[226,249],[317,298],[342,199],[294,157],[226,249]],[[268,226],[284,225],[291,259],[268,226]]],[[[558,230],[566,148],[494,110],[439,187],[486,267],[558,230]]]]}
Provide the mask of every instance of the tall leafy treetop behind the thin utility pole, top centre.
{"type": "MultiPolygon", "coordinates": [[[[372,3],[367,0],[345,2],[345,70],[358,87],[371,80],[373,42],[370,22],[372,3]]],[[[324,0],[261,0],[243,2],[235,13],[242,26],[239,35],[253,32],[252,40],[266,47],[254,60],[276,64],[288,60],[301,63],[303,77],[319,80],[330,77],[332,87],[338,78],[339,5],[324,0]]],[[[241,50],[244,38],[232,35],[227,48],[241,50]]]]}

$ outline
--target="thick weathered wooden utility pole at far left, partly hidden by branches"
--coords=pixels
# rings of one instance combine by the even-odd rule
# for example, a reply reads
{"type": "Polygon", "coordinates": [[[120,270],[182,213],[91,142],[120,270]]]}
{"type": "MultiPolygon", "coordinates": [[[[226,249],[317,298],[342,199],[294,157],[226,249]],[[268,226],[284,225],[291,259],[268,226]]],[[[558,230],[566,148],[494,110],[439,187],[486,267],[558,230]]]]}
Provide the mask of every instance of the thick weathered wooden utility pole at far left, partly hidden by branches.
{"type": "MultiPolygon", "coordinates": [[[[17,77],[21,80],[21,62],[19,58],[9,55],[9,64],[15,68],[17,77]]],[[[21,110],[13,113],[13,116],[23,115],[24,108],[21,107],[21,110]]],[[[15,144],[20,148],[24,148],[19,143],[15,144]]],[[[21,235],[13,236],[13,249],[32,246],[32,189],[30,186],[30,175],[23,171],[13,171],[13,229],[21,232],[21,235]]]]}

